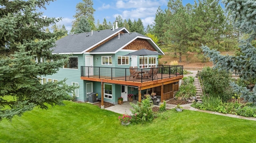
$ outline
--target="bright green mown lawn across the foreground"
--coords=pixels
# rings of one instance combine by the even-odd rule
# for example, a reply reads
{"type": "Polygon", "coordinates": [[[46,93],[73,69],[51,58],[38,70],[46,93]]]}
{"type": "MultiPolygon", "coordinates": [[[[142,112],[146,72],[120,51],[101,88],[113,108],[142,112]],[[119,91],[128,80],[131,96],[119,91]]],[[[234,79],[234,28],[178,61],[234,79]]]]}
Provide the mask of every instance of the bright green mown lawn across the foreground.
{"type": "Polygon", "coordinates": [[[35,108],[0,122],[0,143],[252,143],[256,121],[175,109],[153,123],[122,126],[120,114],[91,104],[35,108]]]}

